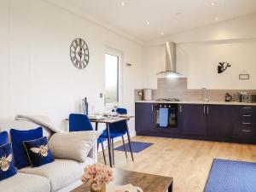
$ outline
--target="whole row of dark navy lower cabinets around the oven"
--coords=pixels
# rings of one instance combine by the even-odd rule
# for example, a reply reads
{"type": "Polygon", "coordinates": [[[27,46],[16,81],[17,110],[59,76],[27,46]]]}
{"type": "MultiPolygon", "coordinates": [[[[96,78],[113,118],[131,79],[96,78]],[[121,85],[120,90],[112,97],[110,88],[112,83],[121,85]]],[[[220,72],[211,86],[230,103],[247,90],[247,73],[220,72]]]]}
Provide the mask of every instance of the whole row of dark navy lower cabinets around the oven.
{"type": "Polygon", "coordinates": [[[256,106],[178,104],[177,128],[160,129],[154,123],[154,103],[137,102],[138,135],[256,143],[256,106]]]}

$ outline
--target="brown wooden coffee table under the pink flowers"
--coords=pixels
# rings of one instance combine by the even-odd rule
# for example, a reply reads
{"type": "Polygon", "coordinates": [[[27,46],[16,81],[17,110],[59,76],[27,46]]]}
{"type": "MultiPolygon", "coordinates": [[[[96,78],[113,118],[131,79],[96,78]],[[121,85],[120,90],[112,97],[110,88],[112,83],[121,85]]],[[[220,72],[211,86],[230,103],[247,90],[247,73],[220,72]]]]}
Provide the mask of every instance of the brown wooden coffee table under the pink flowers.
{"type": "MultiPolygon", "coordinates": [[[[129,172],[120,169],[113,170],[113,183],[124,185],[131,183],[143,189],[143,192],[173,192],[173,178],[151,175],[142,172],[129,172]]],[[[82,184],[72,192],[89,192],[90,185],[82,184]]],[[[107,191],[108,192],[108,191],[107,191]]]]}

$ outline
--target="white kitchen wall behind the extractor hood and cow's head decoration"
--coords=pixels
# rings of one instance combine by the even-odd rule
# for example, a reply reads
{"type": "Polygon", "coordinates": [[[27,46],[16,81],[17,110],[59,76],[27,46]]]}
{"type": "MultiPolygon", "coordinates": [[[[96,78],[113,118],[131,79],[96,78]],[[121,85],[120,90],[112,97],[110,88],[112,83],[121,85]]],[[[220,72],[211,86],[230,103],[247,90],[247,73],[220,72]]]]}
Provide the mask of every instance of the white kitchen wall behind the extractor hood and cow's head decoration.
{"type": "Polygon", "coordinates": [[[165,68],[165,41],[177,43],[177,71],[188,77],[189,89],[256,89],[256,14],[157,39],[143,49],[143,86],[156,89],[155,73],[165,68]],[[232,67],[217,73],[219,61],[232,67]],[[243,70],[250,80],[239,80],[243,70]]]}

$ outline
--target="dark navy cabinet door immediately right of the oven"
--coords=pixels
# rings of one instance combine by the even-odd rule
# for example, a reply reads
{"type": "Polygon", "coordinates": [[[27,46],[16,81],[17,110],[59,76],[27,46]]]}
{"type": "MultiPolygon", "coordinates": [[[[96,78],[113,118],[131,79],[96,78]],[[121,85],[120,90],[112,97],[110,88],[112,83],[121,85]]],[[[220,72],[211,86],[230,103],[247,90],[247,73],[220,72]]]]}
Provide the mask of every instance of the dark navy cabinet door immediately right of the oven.
{"type": "Polygon", "coordinates": [[[204,105],[179,105],[178,126],[183,134],[206,135],[206,114],[204,105]]]}

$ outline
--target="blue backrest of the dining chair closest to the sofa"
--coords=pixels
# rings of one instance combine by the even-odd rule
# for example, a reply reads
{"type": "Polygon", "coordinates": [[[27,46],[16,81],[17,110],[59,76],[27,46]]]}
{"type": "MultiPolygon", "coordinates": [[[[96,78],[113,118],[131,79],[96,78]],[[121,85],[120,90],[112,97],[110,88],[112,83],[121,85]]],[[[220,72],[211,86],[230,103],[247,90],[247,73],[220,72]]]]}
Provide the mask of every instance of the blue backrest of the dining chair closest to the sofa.
{"type": "Polygon", "coordinates": [[[92,131],[90,119],[84,114],[71,113],[69,115],[69,131],[92,131]]]}

